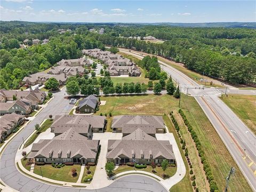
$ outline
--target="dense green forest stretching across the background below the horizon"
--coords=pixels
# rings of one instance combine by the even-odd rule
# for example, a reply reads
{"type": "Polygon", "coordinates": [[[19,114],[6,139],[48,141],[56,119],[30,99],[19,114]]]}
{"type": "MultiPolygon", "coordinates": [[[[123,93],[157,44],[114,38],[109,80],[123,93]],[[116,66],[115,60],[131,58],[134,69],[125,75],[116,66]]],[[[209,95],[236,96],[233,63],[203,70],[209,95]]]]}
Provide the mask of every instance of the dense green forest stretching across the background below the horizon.
{"type": "MultiPolygon", "coordinates": [[[[94,25],[0,21],[0,88],[18,89],[23,77],[43,71],[81,50],[105,45],[126,47],[182,62],[188,69],[231,84],[256,82],[256,31],[246,28],[191,28],[145,25],[94,25]],[[105,33],[89,29],[103,27],[105,33]],[[60,34],[58,29],[70,29],[60,34]],[[164,43],[135,38],[154,36],[164,43]],[[45,45],[20,49],[25,39],[50,39],[45,45]]],[[[147,67],[147,65],[143,67],[147,67]]],[[[149,70],[149,69],[147,69],[149,70]]]]}

